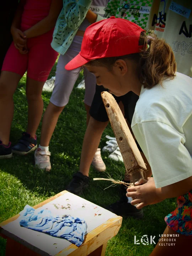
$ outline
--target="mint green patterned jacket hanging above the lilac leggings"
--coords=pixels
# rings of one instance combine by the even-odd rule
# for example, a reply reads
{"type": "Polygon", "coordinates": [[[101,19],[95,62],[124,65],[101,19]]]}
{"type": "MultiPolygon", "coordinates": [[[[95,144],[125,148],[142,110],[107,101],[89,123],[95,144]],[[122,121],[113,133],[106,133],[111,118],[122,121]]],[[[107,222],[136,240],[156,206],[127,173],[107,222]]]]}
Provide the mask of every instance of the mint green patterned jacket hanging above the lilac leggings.
{"type": "MultiPolygon", "coordinates": [[[[63,0],[63,8],[53,32],[52,48],[64,55],[73,42],[76,32],[84,21],[92,0],[63,0]]],[[[97,15],[97,21],[104,18],[97,15]]]]}

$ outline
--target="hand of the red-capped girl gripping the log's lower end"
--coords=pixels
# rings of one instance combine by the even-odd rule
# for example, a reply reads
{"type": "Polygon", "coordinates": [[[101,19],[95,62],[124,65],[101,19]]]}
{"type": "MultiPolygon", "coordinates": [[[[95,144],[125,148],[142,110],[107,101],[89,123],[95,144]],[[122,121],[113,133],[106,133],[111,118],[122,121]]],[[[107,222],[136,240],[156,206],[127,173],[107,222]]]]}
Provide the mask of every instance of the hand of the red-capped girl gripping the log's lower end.
{"type": "Polygon", "coordinates": [[[127,197],[132,197],[131,204],[138,204],[137,209],[141,209],[148,204],[155,204],[162,201],[160,198],[160,189],[155,187],[154,178],[148,178],[144,184],[142,179],[135,183],[136,186],[127,189],[127,197]]]}

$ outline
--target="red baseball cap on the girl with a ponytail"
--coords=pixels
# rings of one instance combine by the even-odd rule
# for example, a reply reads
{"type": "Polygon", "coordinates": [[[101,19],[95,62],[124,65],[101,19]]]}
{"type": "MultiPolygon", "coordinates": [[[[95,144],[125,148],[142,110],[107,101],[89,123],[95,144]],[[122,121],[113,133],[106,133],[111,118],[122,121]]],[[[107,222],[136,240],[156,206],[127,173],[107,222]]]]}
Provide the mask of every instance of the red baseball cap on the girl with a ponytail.
{"type": "Polygon", "coordinates": [[[139,53],[140,33],[145,32],[135,23],[123,18],[110,17],[93,23],[85,30],[80,53],[66,66],[79,68],[90,60],[139,53]]]}

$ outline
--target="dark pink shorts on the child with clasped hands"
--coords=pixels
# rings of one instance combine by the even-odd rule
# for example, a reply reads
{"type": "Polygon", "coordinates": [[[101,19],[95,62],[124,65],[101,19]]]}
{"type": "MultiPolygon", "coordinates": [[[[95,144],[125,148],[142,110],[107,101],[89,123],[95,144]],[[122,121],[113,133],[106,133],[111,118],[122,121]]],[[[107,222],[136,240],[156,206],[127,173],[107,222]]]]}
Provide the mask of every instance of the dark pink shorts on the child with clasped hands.
{"type": "Polygon", "coordinates": [[[23,76],[27,71],[28,78],[44,82],[58,57],[58,53],[50,46],[53,29],[38,37],[27,39],[27,54],[20,54],[14,43],[9,47],[2,71],[10,71],[23,76]]]}

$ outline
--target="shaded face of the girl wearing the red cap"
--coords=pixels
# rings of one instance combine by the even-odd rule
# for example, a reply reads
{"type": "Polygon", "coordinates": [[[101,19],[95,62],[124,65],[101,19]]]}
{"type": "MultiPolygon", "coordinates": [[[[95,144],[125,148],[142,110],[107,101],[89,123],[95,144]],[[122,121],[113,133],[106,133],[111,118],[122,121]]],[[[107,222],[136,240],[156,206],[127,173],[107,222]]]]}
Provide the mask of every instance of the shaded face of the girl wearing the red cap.
{"type": "Polygon", "coordinates": [[[111,94],[122,96],[131,91],[133,74],[128,70],[124,60],[117,60],[112,70],[106,66],[89,66],[89,64],[86,68],[96,76],[97,85],[103,85],[111,94]]]}

